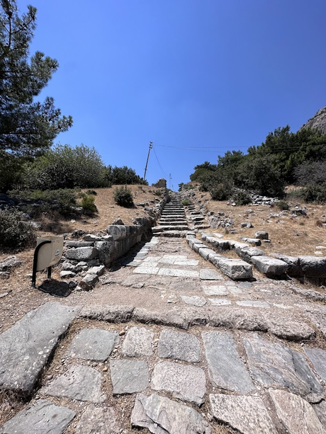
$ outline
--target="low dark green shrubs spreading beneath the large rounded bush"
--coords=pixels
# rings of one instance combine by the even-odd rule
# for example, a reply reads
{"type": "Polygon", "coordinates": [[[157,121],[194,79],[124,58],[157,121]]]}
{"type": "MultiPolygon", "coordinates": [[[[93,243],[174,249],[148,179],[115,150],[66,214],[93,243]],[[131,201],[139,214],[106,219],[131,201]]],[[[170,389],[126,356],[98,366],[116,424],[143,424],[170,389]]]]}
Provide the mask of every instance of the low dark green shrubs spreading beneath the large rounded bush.
{"type": "Polygon", "coordinates": [[[31,199],[37,202],[38,206],[26,205],[26,212],[32,217],[38,217],[41,214],[57,212],[63,217],[72,217],[76,215],[77,192],[75,190],[11,190],[8,192],[11,198],[20,200],[31,199]]]}

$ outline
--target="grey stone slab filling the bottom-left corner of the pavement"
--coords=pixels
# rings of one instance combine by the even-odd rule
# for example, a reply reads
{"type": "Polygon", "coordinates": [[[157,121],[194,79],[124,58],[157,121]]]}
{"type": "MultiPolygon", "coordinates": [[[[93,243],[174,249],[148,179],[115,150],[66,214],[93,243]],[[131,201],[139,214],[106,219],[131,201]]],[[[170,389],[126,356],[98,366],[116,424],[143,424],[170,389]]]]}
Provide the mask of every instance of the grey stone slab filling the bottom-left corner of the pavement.
{"type": "Polygon", "coordinates": [[[4,423],[0,434],[62,434],[74,416],[74,411],[40,399],[4,423]]]}

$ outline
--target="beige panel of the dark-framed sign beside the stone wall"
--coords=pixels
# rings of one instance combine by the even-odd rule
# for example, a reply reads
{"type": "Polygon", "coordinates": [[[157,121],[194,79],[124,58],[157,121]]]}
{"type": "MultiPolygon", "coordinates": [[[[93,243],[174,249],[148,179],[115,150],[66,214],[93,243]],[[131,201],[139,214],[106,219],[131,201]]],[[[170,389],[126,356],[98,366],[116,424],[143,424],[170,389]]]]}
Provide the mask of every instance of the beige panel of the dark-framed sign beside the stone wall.
{"type": "Polygon", "coordinates": [[[43,236],[37,239],[36,246],[43,243],[43,241],[50,241],[50,243],[40,246],[40,250],[38,251],[38,263],[36,265],[37,271],[55,265],[62,257],[63,236],[43,236]]]}

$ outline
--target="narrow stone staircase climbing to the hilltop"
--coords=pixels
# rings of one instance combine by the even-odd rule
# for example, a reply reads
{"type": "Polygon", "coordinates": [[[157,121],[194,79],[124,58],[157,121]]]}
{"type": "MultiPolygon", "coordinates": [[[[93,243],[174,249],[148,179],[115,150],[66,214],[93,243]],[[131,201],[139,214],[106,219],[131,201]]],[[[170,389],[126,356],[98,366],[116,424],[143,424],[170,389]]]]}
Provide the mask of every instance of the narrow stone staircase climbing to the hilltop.
{"type": "Polygon", "coordinates": [[[176,193],[172,196],[172,200],[165,205],[159,225],[152,228],[153,235],[184,237],[189,229],[184,205],[181,204],[181,195],[176,193]]]}

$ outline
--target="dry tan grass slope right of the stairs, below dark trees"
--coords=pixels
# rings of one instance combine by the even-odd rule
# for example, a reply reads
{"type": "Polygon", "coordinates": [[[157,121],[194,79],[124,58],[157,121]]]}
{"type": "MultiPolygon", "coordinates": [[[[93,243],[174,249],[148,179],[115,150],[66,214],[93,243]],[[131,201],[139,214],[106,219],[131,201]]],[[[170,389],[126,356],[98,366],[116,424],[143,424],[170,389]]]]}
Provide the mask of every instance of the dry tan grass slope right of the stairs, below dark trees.
{"type": "MultiPolygon", "coordinates": [[[[291,212],[287,212],[280,217],[272,217],[271,214],[280,214],[278,207],[269,205],[244,205],[232,207],[227,205],[226,201],[210,200],[209,193],[196,193],[196,197],[206,204],[208,211],[217,213],[225,212],[225,217],[231,217],[235,224],[230,229],[235,229],[236,234],[225,234],[225,229],[210,229],[210,232],[220,232],[225,234],[225,238],[240,241],[240,236],[254,238],[257,231],[266,231],[269,233],[271,243],[262,243],[259,249],[266,253],[284,253],[291,256],[313,255],[317,256],[316,246],[326,247],[326,229],[324,226],[317,224],[318,221],[326,222],[326,205],[312,205],[303,203],[292,203],[305,207],[307,216],[300,215],[296,218],[291,217],[291,212]],[[202,197],[203,196],[203,197],[202,197]],[[206,202],[206,199],[208,201],[206,202]],[[247,210],[253,212],[247,214],[247,210]],[[241,228],[242,222],[251,222],[253,228],[241,228]]],[[[326,256],[326,249],[322,250],[322,255],[326,256]]]]}

